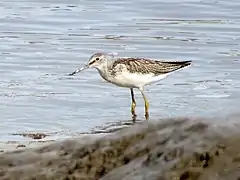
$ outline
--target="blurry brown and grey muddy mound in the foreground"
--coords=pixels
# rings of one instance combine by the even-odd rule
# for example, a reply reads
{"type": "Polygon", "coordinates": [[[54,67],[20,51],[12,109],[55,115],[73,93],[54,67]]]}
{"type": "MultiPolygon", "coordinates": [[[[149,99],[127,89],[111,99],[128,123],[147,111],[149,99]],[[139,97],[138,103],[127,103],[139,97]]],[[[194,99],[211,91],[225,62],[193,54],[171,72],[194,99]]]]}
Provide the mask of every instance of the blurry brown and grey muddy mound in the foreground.
{"type": "Polygon", "coordinates": [[[240,179],[239,126],[209,122],[143,121],[109,134],[4,152],[0,179],[240,179]]]}

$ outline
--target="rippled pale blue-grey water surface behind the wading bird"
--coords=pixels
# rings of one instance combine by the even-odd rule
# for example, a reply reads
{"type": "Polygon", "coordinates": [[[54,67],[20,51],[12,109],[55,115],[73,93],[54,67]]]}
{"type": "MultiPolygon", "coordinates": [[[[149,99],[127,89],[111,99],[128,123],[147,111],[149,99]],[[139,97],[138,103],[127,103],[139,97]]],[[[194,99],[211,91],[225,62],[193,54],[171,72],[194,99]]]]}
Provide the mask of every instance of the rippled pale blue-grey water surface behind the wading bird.
{"type": "MultiPolygon", "coordinates": [[[[150,120],[237,112],[239,8],[239,0],[1,1],[0,140],[130,120],[128,89],[94,69],[66,75],[97,51],[193,61],[146,87],[150,120]]],[[[136,99],[144,120],[138,91],[136,99]]]]}

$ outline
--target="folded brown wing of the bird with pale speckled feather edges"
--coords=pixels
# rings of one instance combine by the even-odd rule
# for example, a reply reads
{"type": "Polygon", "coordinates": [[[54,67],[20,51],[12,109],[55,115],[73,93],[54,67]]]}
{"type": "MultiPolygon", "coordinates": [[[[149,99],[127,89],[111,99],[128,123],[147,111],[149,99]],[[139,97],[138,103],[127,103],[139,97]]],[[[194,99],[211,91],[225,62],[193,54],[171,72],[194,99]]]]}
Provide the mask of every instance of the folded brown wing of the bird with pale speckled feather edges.
{"type": "Polygon", "coordinates": [[[113,63],[113,71],[125,66],[131,73],[161,75],[189,66],[191,61],[155,61],[144,58],[119,58],[113,63]]]}

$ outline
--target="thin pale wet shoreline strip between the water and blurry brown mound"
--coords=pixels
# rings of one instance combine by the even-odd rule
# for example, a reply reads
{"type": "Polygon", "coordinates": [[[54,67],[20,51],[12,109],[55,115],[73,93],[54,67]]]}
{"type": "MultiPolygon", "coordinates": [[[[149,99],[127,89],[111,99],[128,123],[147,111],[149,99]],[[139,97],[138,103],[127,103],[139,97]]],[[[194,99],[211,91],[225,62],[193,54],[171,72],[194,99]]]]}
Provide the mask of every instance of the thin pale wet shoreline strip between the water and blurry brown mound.
{"type": "MultiPolygon", "coordinates": [[[[15,140],[0,141],[0,153],[13,151],[16,149],[24,149],[28,147],[36,147],[39,145],[44,145],[49,142],[54,142],[56,140],[69,139],[73,137],[85,137],[85,136],[103,136],[105,134],[116,132],[125,127],[129,127],[140,123],[142,121],[138,120],[133,122],[120,121],[120,122],[109,122],[107,124],[96,126],[87,132],[18,132],[11,133],[9,136],[16,137],[15,140]]],[[[14,139],[14,138],[13,138],[14,139]]]]}

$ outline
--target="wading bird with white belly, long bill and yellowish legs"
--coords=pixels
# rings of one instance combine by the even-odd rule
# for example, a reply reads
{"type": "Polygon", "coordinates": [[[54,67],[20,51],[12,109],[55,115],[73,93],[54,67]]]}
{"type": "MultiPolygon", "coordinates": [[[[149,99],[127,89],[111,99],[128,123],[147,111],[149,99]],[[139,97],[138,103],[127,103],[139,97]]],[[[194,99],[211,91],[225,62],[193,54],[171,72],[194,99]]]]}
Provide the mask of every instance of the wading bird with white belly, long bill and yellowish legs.
{"type": "Polygon", "coordinates": [[[95,68],[107,82],[119,87],[129,88],[131,94],[131,114],[136,120],[136,101],[133,89],[138,89],[144,99],[145,119],[149,120],[149,102],[144,93],[147,85],[166,78],[169,74],[189,67],[191,60],[166,61],[141,57],[116,57],[114,54],[96,52],[90,56],[86,65],[68,74],[73,76],[89,68],[95,68]]]}

